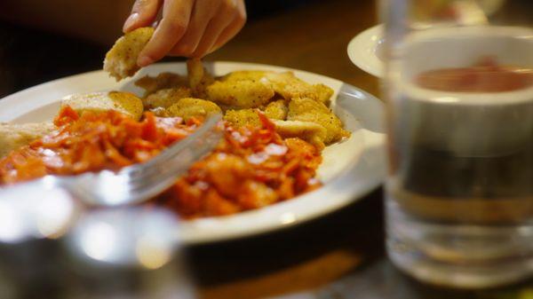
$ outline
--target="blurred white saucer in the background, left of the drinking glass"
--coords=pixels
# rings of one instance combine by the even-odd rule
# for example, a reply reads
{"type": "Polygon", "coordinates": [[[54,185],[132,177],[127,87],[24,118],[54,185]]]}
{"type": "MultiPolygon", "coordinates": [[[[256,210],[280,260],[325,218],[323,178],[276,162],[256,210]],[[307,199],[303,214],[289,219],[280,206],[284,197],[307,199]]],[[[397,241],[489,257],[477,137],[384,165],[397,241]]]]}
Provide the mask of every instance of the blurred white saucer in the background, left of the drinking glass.
{"type": "Polygon", "coordinates": [[[348,43],[347,49],[348,57],[355,66],[377,77],[382,77],[384,71],[380,56],[384,42],[383,28],[381,24],[362,31],[348,43]]]}

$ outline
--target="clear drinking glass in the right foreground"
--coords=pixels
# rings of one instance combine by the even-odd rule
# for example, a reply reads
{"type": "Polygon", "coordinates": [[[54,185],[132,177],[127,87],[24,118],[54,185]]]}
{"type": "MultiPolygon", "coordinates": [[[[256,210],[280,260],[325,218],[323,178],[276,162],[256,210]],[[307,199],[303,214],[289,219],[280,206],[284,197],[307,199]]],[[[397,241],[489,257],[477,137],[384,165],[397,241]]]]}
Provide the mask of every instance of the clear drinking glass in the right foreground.
{"type": "Polygon", "coordinates": [[[390,259],[449,287],[533,277],[533,1],[380,9],[390,259]]]}

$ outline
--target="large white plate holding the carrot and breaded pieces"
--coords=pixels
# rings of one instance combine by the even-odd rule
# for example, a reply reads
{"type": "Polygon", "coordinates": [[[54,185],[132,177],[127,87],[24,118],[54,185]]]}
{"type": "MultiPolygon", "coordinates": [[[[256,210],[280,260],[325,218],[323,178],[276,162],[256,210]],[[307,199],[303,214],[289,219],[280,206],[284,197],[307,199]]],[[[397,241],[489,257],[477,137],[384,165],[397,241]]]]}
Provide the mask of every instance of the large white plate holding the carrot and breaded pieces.
{"type": "MultiPolygon", "coordinates": [[[[206,66],[215,75],[240,69],[288,70],[234,62],[213,62],[206,63],[206,66]]],[[[136,78],[161,72],[186,74],[186,70],[184,63],[156,64],[144,68],[136,78]]],[[[381,101],[338,80],[298,70],[294,72],[309,83],[324,83],[336,91],[332,107],[346,129],[352,131],[351,138],[324,150],[322,166],[318,171],[324,185],[312,193],[264,209],[184,221],[181,231],[183,242],[196,244],[229,240],[301,224],[357,201],[381,184],[385,176],[381,101]]],[[[141,90],[133,85],[136,78],[115,83],[106,73],[95,71],[37,85],[0,100],[0,122],[49,121],[59,110],[60,98],[71,93],[129,90],[139,94],[141,90]]]]}

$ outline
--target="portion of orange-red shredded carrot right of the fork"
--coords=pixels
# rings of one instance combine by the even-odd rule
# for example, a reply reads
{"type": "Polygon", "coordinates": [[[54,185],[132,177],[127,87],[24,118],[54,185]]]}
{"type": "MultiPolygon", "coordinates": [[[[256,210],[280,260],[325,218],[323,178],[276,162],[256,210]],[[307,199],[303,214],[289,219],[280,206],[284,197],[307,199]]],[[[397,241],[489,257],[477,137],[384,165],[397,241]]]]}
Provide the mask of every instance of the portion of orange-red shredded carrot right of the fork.
{"type": "Polygon", "coordinates": [[[282,139],[259,114],[258,127],[227,126],[224,141],[196,162],[158,201],[181,216],[220,216],[258,209],[318,188],[320,151],[299,138],[282,139]]]}

